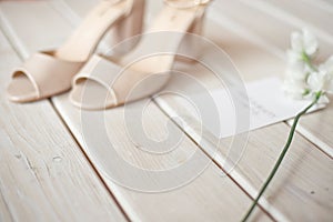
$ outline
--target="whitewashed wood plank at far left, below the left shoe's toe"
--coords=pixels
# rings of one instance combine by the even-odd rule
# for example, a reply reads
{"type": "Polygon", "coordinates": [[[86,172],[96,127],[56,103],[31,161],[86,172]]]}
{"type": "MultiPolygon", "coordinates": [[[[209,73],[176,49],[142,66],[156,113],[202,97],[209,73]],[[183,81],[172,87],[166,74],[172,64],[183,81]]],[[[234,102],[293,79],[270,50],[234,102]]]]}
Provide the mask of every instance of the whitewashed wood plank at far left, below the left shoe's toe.
{"type": "Polygon", "coordinates": [[[21,61],[2,33],[0,42],[0,220],[124,221],[49,101],[7,100],[21,61]]]}

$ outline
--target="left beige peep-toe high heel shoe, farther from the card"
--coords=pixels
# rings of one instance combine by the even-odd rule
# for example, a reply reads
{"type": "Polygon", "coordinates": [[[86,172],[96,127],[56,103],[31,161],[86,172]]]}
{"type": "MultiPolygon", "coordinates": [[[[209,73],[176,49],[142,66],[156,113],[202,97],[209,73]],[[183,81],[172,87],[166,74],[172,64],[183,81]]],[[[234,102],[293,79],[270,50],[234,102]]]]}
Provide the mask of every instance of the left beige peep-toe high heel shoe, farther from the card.
{"type": "Polygon", "coordinates": [[[113,43],[141,33],[143,10],[144,0],[102,0],[61,48],[38,52],[14,70],[8,98],[31,102],[70,90],[108,30],[113,43]]]}

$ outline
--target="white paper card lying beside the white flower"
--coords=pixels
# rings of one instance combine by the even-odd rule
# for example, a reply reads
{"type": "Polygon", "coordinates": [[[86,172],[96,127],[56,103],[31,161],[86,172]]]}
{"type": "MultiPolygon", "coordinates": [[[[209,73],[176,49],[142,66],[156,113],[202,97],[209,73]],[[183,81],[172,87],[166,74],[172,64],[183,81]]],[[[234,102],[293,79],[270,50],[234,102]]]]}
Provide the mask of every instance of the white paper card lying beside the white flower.
{"type": "MultiPolygon", "coordinates": [[[[189,109],[186,105],[184,105],[186,107],[184,109],[216,138],[226,138],[294,118],[311,103],[309,100],[287,98],[282,91],[282,82],[278,78],[253,81],[246,83],[245,88],[249,100],[244,101],[250,102],[248,102],[248,108],[250,104],[250,109],[246,109],[246,102],[239,101],[236,102],[239,112],[236,112],[235,102],[232,101],[230,91],[225,89],[210,92],[215,107],[212,107],[212,100],[208,98],[208,93],[198,93],[192,94],[191,100],[195,101],[194,103],[199,109],[198,107],[196,109],[189,109]],[[203,118],[204,115],[208,118],[203,118]]],[[[176,100],[179,100],[180,104],[184,103],[181,98],[176,100]]],[[[242,100],[242,97],[239,97],[238,100],[242,100]]],[[[316,105],[310,111],[315,111],[323,107],[316,105]]],[[[189,119],[179,118],[186,125],[191,125],[190,122],[186,122],[189,119]]]]}

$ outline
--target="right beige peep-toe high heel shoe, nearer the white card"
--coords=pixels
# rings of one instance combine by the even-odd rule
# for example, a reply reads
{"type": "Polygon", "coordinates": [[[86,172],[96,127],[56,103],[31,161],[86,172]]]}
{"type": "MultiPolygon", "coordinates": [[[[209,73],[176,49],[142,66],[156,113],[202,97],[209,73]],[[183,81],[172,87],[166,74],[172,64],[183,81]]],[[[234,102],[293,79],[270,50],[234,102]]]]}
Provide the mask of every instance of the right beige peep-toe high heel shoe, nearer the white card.
{"type": "Polygon", "coordinates": [[[87,62],[73,79],[71,102],[82,109],[100,110],[135,101],[161,90],[170,74],[155,73],[168,72],[173,64],[174,54],[159,52],[165,47],[175,52],[181,43],[188,43],[183,41],[186,32],[200,33],[210,1],[164,0],[165,4],[152,27],[123,61],[112,62],[110,59],[93,56],[87,62]],[[144,56],[142,51],[157,56],[127,65],[138,60],[138,54],[144,56]]]}

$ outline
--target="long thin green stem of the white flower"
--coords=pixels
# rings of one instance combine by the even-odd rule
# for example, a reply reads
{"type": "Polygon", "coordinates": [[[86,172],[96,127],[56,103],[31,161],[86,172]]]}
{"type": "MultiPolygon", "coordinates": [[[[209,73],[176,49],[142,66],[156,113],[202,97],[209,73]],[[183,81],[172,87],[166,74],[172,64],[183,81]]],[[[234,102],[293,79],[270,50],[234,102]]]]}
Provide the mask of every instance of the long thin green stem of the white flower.
{"type": "Polygon", "coordinates": [[[299,122],[300,118],[303,114],[305,114],[319,101],[319,99],[321,98],[321,95],[322,95],[322,92],[317,92],[315,94],[315,98],[314,98],[313,102],[295,117],[294,122],[293,122],[292,128],[291,128],[290,133],[289,133],[287,141],[286,141],[286,143],[285,143],[285,145],[284,145],[284,148],[283,148],[283,150],[282,150],[282,152],[281,152],[281,154],[280,154],[280,157],[279,157],[279,159],[278,159],[278,161],[276,161],[273,170],[271,171],[269,178],[266,179],[265,183],[263,184],[263,186],[260,190],[256,199],[253,201],[251,208],[249,209],[248,213],[243,218],[242,222],[245,222],[245,221],[249,220],[251,213],[253,212],[255,205],[258,204],[259,199],[264,193],[264,191],[266,190],[268,185],[270,184],[270,182],[272,181],[273,176],[275,175],[275,173],[276,173],[276,171],[278,171],[281,162],[283,161],[283,159],[284,159],[284,157],[285,157],[285,154],[286,154],[286,152],[287,152],[287,150],[290,148],[290,144],[291,144],[292,140],[293,140],[293,135],[295,133],[295,129],[296,129],[296,125],[297,125],[297,122],[299,122]]]}

